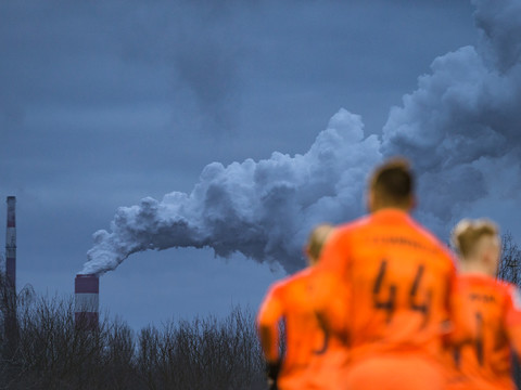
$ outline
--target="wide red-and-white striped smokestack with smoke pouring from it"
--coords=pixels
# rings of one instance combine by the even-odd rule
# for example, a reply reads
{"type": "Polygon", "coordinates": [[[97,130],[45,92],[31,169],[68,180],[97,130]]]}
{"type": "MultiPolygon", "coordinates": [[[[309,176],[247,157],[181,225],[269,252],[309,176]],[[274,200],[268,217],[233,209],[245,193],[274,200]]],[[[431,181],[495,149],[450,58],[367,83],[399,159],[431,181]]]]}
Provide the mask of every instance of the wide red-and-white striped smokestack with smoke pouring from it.
{"type": "Polygon", "coordinates": [[[97,329],[99,324],[100,280],[94,274],[77,274],[74,280],[76,326],[97,329]]]}

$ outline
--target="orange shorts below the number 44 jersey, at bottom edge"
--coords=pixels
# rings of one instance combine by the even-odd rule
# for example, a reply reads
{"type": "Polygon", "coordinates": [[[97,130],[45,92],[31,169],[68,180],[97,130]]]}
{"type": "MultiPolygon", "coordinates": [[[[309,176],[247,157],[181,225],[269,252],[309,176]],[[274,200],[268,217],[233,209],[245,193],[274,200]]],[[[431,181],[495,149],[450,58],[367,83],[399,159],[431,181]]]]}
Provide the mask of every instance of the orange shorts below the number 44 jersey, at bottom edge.
{"type": "Polygon", "coordinates": [[[365,359],[354,363],[346,374],[350,390],[442,390],[443,367],[418,355],[399,354],[365,359]]]}

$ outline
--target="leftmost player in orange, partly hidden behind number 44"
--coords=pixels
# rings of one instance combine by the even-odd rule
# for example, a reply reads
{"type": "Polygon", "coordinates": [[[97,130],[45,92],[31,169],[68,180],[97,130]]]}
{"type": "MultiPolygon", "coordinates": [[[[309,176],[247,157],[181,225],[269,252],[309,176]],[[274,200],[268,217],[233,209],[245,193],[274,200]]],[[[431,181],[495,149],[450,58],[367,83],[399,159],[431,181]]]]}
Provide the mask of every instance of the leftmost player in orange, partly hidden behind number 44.
{"type": "Polygon", "coordinates": [[[319,225],[306,247],[309,268],[275,283],[260,306],[257,325],[267,362],[270,389],[338,389],[341,367],[346,362],[342,342],[332,339],[312,304],[309,281],[322,244],[332,226],[319,225]],[[285,327],[285,354],[280,355],[280,340],[285,327]]]}

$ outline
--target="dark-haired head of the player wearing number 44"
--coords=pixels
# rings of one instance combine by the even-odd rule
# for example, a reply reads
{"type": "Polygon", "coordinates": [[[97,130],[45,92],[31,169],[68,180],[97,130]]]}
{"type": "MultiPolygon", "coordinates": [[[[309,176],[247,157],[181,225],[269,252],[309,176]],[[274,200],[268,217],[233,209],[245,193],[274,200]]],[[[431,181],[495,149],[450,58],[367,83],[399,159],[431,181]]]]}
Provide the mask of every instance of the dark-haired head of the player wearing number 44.
{"type": "Polygon", "coordinates": [[[372,173],[369,209],[397,207],[408,210],[414,204],[414,186],[409,161],[399,157],[387,160],[372,173]]]}

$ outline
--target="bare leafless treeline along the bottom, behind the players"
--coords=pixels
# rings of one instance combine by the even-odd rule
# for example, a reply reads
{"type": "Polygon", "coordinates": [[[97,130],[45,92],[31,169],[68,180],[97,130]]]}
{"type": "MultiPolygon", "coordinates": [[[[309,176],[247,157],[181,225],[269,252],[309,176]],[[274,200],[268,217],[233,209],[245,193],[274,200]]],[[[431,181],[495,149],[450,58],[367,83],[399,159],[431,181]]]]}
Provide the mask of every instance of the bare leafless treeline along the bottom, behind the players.
{"type": "MultiPolygon", "coordinates": [[[[521,249],[510,234],[498,277],[521,283],[521,249]]],[[[30,288],[14,296],[0,273],[0,389],[266,389],[254,315],[237,307],[224,318],[138,333],[104,317],[92,332],[76,326],[72,299],[37,297],[30,288]]]]}

